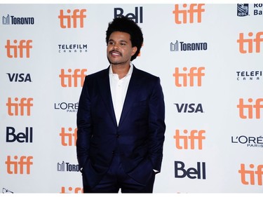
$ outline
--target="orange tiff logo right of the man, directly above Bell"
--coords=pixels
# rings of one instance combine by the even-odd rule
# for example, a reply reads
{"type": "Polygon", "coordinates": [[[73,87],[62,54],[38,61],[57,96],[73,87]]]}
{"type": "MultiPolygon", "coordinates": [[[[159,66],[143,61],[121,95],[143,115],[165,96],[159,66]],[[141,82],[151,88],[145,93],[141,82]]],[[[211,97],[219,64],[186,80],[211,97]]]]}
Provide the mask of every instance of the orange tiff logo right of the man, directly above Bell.
{"type": "Polygon", "coordinates": [[[177,149],[203,149],[203,140],[205,137],[203,134],[205,130],[191,130],[190,135],[188,135],[188,130],[184,130],[185,135],[180,134],[180,130],[175,130],[175,147],[177,149]]]}

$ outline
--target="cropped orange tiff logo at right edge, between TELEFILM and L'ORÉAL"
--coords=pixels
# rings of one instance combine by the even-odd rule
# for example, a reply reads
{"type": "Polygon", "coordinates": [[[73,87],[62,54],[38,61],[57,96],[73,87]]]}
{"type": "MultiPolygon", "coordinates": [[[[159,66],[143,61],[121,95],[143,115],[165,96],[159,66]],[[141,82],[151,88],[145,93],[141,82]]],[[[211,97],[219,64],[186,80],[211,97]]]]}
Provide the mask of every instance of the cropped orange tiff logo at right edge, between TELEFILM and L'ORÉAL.
{"type": "Polygon", "coordinates": [[[258,98],[255,104],[252,104],[252,98],[249,98],[248,102],[250,102],[250,104],[244,104],[243,98],[239,99],[239,104],[236,106],[239,109],[239,117],[241,117],[242,119],[252,119],[254,111],[255,118],[261,118],[261,113],[263,111],[263,98],[258,98]]]}

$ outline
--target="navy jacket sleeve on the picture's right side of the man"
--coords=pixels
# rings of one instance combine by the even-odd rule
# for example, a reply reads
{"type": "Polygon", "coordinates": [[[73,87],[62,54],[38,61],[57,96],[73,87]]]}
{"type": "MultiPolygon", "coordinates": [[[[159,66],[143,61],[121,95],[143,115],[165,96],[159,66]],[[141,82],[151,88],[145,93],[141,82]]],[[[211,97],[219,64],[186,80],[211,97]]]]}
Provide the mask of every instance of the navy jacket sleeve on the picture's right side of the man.
{"type": "Polygon", "coordinates": [[[165,104],[160,79],[157,78],[156,85],[149,100],[149,158],[154,170],[161,171],[163,159],[163,142],[166,130],[165,104]]]}

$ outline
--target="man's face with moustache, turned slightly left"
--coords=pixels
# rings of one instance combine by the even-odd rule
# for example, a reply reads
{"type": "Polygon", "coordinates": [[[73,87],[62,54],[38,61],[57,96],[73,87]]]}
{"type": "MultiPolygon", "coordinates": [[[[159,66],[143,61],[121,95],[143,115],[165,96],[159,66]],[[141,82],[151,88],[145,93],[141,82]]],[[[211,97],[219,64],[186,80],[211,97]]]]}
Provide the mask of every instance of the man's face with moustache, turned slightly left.
{"type": "Polygon", "coordinates": [[[107,57],[112,65],[130,65],[130,57],[137,50],[132,46],[130,34],[125,32],[112,32],[107,43],[107,57]]]}

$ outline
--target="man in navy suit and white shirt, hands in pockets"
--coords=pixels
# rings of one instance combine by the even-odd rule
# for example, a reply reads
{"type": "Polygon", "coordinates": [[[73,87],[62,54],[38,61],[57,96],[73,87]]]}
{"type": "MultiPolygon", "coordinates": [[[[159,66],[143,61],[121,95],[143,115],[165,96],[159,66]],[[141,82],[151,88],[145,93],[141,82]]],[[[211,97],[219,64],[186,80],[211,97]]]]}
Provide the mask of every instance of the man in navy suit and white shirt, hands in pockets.
{"type": "Polygon", "coordinates": [[[86,76],[77,112],[83,191],[152,193],[166,130],[160,79],[131,63],[143,42],[133,20],[114,19],[106,34],[110,65],[86,76]]]}

